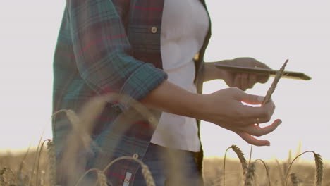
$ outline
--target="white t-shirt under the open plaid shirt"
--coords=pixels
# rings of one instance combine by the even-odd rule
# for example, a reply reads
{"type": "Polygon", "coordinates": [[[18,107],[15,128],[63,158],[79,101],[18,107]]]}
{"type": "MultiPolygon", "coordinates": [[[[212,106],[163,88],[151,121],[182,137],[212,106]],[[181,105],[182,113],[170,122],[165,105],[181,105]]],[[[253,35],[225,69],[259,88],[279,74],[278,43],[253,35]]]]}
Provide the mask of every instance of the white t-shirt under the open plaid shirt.
{"type": "MultiPolygon", "coordinates": [[[[200,51],[209,29],[207,11],[200,0],[165,0],[161,23],[161,58],[168,80],[190,92],[193,58],[200,51]]],[[[200,151],[195,118],[163,112],[151,142],[164,147],[200,151]]]]}

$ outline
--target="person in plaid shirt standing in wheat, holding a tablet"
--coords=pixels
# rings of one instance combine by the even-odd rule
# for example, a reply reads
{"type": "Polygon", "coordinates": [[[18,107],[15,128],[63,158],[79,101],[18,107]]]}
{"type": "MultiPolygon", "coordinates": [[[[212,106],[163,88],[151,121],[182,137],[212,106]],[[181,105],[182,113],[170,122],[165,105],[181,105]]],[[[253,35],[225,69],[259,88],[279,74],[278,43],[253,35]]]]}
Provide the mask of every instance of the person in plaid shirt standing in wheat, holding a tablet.
{"type": "MultiPolygon", "coordinates": [[[[229,73],[215,68],[215,63],[204,63],[210,36],[209,16],[200,0],[67,1],[54,57],[54,111],[79,112],[92,97],[119,93],[140,101],[159,120],[156,128],[132,113],[130,99],[109,102],[92,129],[92,151],[77,154],[77,159],[87,159],[80,162],[83,168],[101,169],[118,157],[133,156],[149,166],[156,185],[202,185],[202,147],[193,118],[236,132],[250,144],[269,145],[252,135],[265,135],[281,123],[254,125],[270,120],[274,103],[241,104],[261,104],[263,97],[242,90],[268,77],[229,73]],[[201,94],[202,82],[214,79],[225,80],[231,88],[201,94]],[[123,125],[128,129],[118,132],[123,125]],[[178,171],[168,168],[161,157],[168,152],[183,159],[183,182],[173,183],[178,171]]],[[[268,68],[252,58],[216,63],[268,68]]],[[[70,126],[66,116],[53,120],[61,165],[70,148],[70,126]]],[[[106,171],[108,185],[145,185],[139,168],[131,160],[114,163],[106,171]]],[[[75,173],[63,166],[57,171],[59,184],[72,184],[68,180],[75,173]]]]}

